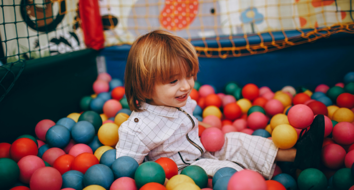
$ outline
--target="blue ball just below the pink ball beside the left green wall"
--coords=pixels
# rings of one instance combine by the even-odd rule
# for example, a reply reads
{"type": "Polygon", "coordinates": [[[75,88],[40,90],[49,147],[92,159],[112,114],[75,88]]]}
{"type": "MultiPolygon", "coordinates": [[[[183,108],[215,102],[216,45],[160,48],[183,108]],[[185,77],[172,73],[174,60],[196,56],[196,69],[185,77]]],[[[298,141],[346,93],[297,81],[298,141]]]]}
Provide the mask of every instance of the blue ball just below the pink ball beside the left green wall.
{"type": "Polygon", "coordinates": [[[62,125],[54,125],[46,133],[46,142],[51,147],[65,148],[70,142],[70,131],[62,125]]]}

